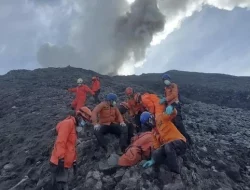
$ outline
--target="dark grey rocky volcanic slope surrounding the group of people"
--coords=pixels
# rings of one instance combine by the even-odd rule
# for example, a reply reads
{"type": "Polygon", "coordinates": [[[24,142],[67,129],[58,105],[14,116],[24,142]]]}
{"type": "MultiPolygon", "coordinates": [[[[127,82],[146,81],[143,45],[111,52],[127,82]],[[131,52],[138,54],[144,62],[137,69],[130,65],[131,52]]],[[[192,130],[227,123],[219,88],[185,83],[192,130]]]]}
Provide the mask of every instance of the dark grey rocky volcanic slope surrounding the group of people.
{"type": "MultiPolygon", "coordinates": [[[[48,189],[54,127],[69,113],[73,98],[66,89],[74,86],[78,77],[90,82],[93,74],[68,67],[11,71],[0,76],[1,190],[48,189]]],[[[182,179],[173,179],[165,167],[160,171],[145,170],[140,164],[111,170],[103,167],[105,156],[90,127],[79,139],[79,170],[77,177],[72,177],[71,189],[250,189],[250,79],[177,71],[171,75],[188,100],[183,108],[184,122],[195,142],[181,159],[182,179]]],[[[122,100],[127,85],[160,93],[162,84],[157,77],[101,76],[102,95],[115,92],[122,100]]],[[[87,105],[93,108],[91,97],[87,105]]],[[[116,143],[110,144],[110,151],[116,143]]]]}

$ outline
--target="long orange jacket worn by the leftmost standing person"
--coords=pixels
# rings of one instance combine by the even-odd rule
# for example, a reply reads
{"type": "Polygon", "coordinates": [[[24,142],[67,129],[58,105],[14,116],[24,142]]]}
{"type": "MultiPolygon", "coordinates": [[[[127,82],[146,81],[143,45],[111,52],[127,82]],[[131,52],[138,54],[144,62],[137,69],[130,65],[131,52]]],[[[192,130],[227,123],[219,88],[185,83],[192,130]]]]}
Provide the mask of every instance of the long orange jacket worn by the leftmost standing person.
{"type": "Polygon", "coordinates": [[[76,120],[69,116],[65,120],[59,122],[56,126],[57,138],[54,149],[50,158],[50,162],[58,165],[58,160],[64,159],[64,167],[72,167],[76,160],[76,120]]]}

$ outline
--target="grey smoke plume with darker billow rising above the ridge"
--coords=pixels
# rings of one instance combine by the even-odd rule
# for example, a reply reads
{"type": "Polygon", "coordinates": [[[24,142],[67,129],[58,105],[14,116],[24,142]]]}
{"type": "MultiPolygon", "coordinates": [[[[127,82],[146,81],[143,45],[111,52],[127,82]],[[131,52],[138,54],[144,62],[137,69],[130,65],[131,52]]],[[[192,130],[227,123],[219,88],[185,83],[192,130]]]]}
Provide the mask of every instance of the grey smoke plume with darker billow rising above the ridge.
{"type": "Polygon", "coordinates": [[[163,31],[165,17],[156,0],[77,1],[79,17],[72,22],[69,46],[43,45],[38,62],[116,74],[126,60],[144,59],[153,35],[163,31]],[[67,52],[69,50],[69,52],[67,52]]]}

